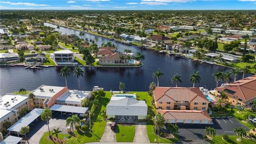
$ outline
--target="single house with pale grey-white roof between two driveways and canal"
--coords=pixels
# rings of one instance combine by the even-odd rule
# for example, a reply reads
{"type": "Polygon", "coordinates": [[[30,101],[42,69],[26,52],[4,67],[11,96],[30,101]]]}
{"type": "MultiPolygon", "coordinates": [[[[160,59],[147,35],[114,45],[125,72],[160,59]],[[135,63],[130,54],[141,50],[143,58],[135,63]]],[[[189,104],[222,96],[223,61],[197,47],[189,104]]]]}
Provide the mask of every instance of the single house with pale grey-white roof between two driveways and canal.
{"type": "Polygon", "coordinates": [[[111,97],[107,105],[108,118],[114,119],[145,119],[148,106],[143,100],[128,97],[111,97]]]}

